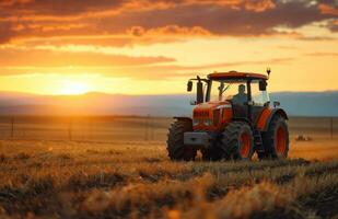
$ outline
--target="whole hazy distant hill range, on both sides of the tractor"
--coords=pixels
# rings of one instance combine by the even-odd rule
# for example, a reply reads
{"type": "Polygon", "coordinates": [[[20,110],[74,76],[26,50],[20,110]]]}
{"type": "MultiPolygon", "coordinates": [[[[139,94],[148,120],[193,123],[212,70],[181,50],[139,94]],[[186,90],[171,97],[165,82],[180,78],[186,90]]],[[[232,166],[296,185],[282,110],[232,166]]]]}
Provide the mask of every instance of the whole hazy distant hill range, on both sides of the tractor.
{"type": "MultiPolygon", "coordinates": [[[[88,93],[83,95],[34,95],[0,92],[0,115],[153,115],[190,116],[187,94],[124,95],[88,93]]],[[[278,92],[278,100],[292,116],[338,116],[338,91],[278,92]]]]}

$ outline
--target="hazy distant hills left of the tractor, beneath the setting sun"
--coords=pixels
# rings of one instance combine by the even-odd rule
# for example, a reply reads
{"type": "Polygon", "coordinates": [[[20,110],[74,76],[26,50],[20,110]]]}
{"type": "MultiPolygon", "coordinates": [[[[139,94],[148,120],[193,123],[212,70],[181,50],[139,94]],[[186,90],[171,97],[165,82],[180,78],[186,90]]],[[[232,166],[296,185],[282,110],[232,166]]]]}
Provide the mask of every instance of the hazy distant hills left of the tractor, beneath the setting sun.
{"type": "Polygon", "coordinates": [[[188,95],[18,95],[0,92],[0,115],[189,115],[188,95]]]}

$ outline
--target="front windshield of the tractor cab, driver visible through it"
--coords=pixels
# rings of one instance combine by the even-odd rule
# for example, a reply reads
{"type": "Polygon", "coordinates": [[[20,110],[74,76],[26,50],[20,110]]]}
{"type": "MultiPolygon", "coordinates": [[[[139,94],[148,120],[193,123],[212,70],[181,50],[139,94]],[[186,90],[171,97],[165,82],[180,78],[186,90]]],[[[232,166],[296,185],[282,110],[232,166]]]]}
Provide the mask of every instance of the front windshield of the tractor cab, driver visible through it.
{"type": "Polygon", "coordinates": [[[235,104],[247,102],[245,81],[212,81],[210,101],[233,101],[235,104]]]}

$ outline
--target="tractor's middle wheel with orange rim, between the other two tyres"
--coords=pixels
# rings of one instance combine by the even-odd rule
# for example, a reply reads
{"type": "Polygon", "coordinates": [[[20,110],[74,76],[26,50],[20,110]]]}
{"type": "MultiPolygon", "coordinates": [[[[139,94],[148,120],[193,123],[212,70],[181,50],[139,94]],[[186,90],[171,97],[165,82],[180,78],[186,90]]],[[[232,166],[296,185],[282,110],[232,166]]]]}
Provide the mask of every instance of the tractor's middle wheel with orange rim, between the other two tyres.
{"type": "Polygon", "coordinates": [[[230,160],[252,160],[254,138],[252,128],[244,122],[230,123],[221,138],[222,158],[230,160]]]}

